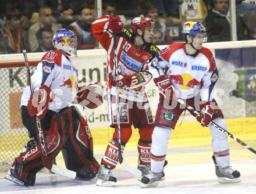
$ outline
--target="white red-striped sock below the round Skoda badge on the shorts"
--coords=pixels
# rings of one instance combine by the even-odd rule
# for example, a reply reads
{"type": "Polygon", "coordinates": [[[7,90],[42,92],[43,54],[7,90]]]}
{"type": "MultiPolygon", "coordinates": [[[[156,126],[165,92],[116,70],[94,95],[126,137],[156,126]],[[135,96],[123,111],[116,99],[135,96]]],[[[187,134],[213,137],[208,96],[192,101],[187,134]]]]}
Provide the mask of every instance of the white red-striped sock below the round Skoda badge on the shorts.
{"type": "Polygon", "coordinates": [[[171,134],[172,130],[170,128],[158,125],[154,128],[151,147],[151,171],[154,173],[163,171],[171,134]]]}

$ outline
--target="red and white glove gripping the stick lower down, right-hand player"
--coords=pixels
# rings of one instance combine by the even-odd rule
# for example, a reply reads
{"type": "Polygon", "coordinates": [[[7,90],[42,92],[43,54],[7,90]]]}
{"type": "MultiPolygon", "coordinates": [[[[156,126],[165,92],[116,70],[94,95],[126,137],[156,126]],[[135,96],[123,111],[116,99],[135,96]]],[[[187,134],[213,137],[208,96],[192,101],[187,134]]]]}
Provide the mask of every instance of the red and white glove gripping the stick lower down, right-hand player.
{"type": "Polygon", "coordinates": [[[204,116],[198,114],[196,118],[197,121],[201,123],[202,127],[208,127],[209,123],[212,121],[212,114],[214,114],[214,106],[210,105],[210,102],[207,102],[204,105],[202,105],[202,109],[205,109],[204,116]]]}

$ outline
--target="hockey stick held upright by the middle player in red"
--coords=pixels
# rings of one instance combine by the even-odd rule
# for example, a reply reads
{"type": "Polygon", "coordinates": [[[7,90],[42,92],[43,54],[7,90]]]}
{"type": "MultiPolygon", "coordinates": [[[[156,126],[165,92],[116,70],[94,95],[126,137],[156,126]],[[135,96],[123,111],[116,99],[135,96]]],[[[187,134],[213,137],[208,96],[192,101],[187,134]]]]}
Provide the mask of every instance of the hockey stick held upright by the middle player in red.
{"type": "MultiPolygon", "coordinates": [[[[115,80],[118,79],[118,64],[117,64],[117,53],[116,53],[116,33],[113,33],[113,44],[114,44],[114,65],[115,65],[115,71],[113,73],[115,73],[113,75],[113,77],[115,78],[115,80]]],[[[140,170],[138,170],[137,168],[134,168],[132,166],[130,166],[129,164],[127,164],[125,162],[125,160],[123,160],[123,155],[122,155],[122,148],[121,148],[121,133],[120,133],[120,107],[119,107],[119,87],[116,86],[116,123],[118,124],[118,159],[119,159],[119,163],[121,164],[121,166],[123,168],[126,168],[126,170],[128,170],[131,174],[135,175],[136,177],[141,177],[142,173],[140,170]]]]}

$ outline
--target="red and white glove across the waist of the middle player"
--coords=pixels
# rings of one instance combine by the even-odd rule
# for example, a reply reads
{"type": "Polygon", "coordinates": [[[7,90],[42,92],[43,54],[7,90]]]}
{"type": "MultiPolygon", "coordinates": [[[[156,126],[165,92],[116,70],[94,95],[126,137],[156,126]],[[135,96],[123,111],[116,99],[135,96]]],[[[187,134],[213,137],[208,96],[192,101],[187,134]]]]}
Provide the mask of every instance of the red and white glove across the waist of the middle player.
{"type": "Polygon", "coordinates": [[[115,80],[112,75],[109,76],[109,80],[112,82],[112,85],[125,89],[142,87],[143,85],[147,84],[151,78],[152,75],[148,71],[141,71],[130,75],[120,73],[117,80],[115,80]]]}

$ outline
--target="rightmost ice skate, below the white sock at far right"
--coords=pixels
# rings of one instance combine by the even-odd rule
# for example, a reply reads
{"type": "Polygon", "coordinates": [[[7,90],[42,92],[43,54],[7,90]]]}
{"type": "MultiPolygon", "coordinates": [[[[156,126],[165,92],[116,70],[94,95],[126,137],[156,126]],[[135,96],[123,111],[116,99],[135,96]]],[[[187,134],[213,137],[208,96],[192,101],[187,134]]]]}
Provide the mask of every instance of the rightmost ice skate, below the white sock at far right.
{"type": "Polygon", "coordinates": [[[215,164],[216,176],[219,183],[235,183],[240,182],[240,173],[237,170],[233,170],[231,166],[222,168],[216,163],[215,157],[212,156],[215,164]]]}

